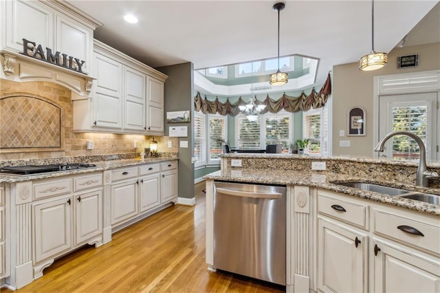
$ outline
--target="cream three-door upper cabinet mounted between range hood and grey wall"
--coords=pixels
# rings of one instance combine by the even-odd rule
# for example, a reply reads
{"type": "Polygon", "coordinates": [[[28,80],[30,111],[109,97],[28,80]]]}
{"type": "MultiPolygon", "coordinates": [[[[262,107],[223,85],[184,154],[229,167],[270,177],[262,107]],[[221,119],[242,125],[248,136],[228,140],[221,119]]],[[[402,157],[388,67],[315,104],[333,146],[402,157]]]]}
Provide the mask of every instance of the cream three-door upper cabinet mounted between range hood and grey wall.
{"type": "Polygon", "coordinates": [[[168,76],[94,41],[96,81],[90,98],[74,100],[74,131],[164,134],[168,76]]]}

